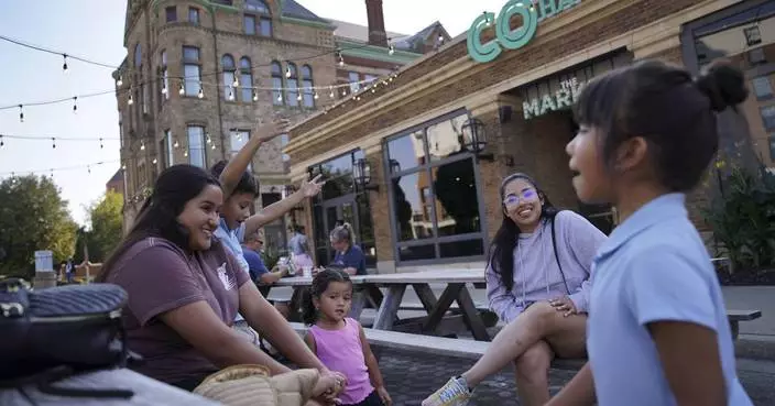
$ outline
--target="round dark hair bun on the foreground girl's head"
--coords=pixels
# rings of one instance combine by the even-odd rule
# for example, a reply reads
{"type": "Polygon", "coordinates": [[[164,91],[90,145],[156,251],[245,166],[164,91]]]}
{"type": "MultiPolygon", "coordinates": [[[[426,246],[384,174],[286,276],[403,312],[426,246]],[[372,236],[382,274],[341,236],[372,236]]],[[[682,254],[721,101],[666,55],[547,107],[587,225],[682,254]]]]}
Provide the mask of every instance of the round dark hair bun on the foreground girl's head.
{"type": "Polygon", "coordinates": [[[697,88],[710,99],[710,108],[723,111],[749,97],[743,73],[728,61],[716,61],[708,65],[695,80],[697,88]]]}

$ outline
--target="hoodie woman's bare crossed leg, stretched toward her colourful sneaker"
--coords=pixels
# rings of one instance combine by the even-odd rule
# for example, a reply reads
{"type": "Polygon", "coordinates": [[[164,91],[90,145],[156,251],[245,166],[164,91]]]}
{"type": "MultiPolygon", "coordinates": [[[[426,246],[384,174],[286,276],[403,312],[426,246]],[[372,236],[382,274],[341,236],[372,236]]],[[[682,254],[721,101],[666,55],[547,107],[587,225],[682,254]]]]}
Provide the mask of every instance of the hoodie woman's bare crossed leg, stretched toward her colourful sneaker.
{"type": "Polygon", "coordinates": [[[462,373],[466,384],[469,387],[479,385],[484,378],[520,358],[545,336],[561,331],[557,323],[561,323],[563,319],[563,315],[548,301],[538,301],[528,307],[506,325],[492,340],[482,358],[462,373]]]}

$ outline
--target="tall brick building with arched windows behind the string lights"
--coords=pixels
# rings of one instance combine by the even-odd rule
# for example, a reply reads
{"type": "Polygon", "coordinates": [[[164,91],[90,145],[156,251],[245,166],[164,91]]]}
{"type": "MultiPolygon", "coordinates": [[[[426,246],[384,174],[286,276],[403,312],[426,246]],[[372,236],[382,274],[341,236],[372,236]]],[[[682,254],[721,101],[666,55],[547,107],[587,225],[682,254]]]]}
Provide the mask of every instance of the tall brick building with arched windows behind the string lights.
{"type": "MultiPolygon", "coordinates": [[[[367,85],[358,81],[369,79],[365,75],[422,56],[421,41],[389,52],[382,2],[365,6],[373,26],[348,24],[367,33],[360,41],[335,37],[335,22],[295,0],[129,0],[128,55],[113,73],[125,223],[165,167],[210,167],[239,151],[256,121],[276,116],[301,121],[349,95],[351,86],[367,85]],[[353,85],[340,80],[350,72],[361,75],[353,85]]],[[[430,31],[449,39],[438,24],[430,31]]],[[[261,180],[256,207],[286,190],[288,156],[281,149],[287,141],[283,135],[268,142],[252,163],[261,180]]],[[[266,227],[268,248],[284,249],[285,222],[266,227]]]]}

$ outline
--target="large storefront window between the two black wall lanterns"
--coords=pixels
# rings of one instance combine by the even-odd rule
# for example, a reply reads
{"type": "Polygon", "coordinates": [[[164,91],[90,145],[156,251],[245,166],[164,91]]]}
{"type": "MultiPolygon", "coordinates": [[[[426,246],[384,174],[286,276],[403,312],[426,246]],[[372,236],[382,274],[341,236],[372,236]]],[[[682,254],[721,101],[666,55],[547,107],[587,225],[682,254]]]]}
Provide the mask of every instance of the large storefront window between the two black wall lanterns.
{"type": "Polygon", "coordinates": [[[397,262],[484,254],[477,163],[460,146],[466,112],[388,140],[397,262]]]}

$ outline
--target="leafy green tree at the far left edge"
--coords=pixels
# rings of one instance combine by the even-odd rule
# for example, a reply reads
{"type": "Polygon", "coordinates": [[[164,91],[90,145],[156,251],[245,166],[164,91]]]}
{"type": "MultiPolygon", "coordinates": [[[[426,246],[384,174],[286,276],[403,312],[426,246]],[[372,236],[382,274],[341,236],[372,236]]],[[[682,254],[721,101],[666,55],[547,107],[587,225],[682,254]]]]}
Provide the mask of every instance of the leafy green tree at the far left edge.
{"type": "Polygon", "coordinates": [[[31,279],[37,250],[54,253],[54,266],[73,255],[77,226],[67,201],[45,176],[14,176],[0,183],[0,274],[31,279]]]}

